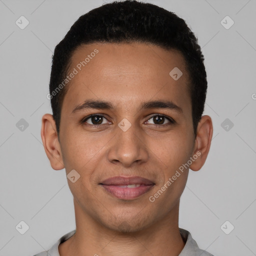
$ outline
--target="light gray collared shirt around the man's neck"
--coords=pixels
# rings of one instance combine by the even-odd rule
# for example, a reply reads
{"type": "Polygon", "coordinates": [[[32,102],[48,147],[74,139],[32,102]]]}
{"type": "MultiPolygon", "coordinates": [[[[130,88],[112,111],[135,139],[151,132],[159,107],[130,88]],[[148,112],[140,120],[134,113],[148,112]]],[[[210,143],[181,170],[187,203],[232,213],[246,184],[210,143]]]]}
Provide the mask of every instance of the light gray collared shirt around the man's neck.
{"type": "MultiPolygon", "coordinates": [[[[179,256],[213,256],[209,252],[199,249],[196,241],[192,238],[191,234],[187,230],[179,228],[179,232],[185,242],[185,246],[182,249],[182,251],[179,253],[179,256]]],[[[59,253],[58,253],[59,243],[64,242],[69,237],[71,237],[74,233],[75,233],[75,229],[61,236],[56,241],[56,243],[52,245],[52,247],[49,250],[42,251],[33,256],[59,256],[59,253]]]]}

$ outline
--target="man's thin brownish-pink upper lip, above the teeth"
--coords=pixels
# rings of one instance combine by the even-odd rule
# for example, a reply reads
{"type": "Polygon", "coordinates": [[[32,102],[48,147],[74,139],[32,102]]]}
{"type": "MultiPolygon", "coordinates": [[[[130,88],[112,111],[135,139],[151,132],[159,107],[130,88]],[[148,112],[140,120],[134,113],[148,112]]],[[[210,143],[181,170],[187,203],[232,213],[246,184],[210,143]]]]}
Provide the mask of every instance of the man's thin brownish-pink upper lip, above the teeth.
{"type": "Polygon", "coordinates": [[[124,177],[124,176],[114,176],[107,178],[100,182],[103,185],[132,185],[132,184],[144,184],[144,185],[153,185],[154,182],[143,177],[132,176],[132,177],[124,177]]]}

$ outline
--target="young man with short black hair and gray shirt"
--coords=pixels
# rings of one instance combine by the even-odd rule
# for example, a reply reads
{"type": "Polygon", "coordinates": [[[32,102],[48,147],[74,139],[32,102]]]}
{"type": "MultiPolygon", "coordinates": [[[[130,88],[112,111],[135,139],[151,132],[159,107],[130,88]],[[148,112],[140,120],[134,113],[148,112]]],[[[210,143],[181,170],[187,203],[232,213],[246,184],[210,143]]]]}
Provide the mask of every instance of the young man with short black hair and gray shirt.
{"type": "Polygon", "coordinates": [[[185,21],[149,3],[104,4],[55,47],[41,137],[65,168],[76,229],[37,256],[212,255],[178,227],[188,170],[204,164],[203,56],[185,21]]]}

